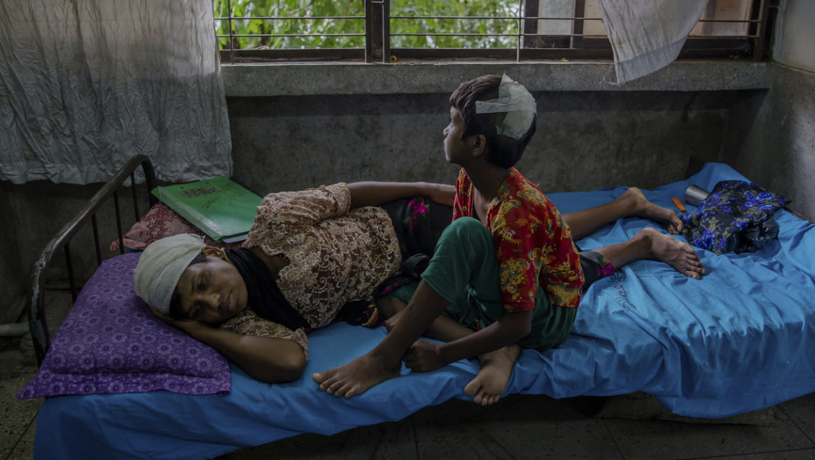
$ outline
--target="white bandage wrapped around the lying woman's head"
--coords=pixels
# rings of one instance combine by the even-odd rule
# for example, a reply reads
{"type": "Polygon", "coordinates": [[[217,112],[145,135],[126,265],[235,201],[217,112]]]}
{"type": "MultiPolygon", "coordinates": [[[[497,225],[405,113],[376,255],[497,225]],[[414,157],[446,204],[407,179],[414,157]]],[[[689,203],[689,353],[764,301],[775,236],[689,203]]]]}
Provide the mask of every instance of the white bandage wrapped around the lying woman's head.
{"type": "Polygon", "coordinates": [[[191,233],[161,238],[148,245],[133,271],[136,294],[166,315],[178,278],[205,247],[204,237],[191,233]]]}

